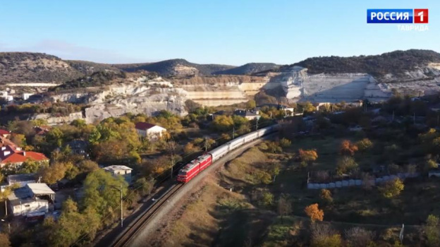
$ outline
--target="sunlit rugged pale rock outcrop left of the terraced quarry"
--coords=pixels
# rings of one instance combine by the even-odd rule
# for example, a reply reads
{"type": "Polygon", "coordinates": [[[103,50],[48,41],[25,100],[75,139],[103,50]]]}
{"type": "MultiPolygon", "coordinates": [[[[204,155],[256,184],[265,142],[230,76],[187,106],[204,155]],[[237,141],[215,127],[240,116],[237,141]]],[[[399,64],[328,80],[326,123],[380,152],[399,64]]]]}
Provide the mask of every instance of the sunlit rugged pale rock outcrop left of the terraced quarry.
{"type": "Polygon", "coordinates": [[[169,85],[171,85],[169,82],[161,78],[147,82],[138,78],[130,84],[87,88],[87,92],[81,93],[60,93],[51,96],[51,100],[88,104],[90,107],[87,107],[83,113],[71,114],[68,117],[54,118],[43,114],[35,117],[48,119],[49,123],[56,124],[69,122],[75,118],[94,123],[129,112],[154,115],[161,110],[185,116],[188,114],[185,110],[188,92],[181,88],[171,88],[169,85]]]}

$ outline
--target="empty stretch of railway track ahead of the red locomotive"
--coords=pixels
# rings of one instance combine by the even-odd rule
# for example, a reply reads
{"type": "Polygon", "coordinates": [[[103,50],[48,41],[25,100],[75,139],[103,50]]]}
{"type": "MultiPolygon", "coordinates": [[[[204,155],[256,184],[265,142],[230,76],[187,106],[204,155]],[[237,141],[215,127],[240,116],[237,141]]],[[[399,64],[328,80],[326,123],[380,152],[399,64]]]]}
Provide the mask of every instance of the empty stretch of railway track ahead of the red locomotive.
{"type": "Polygon", "coordinates": [[[168,199],[171,198],[174,194],[176,194],[182,187],[183,183],[176,183],[169,190],[162,195],[160,198],[156,200],[156,203],[152,205],[152,207],[149,208],[148,212],[145,213],[145,215],[142,215],[140,219],[138,219],[135,223],[130,225],[128,229],[125,231],[125,233],[114,243],[114,247],[123,247],[123,246],[129,246],[130,241],[133,239],[133,236],[137,235],[140,229],[145,226],[149,222],[149,219],[152,219],[154,215],[156,215],[157,212],[166,205],[168,202],[168,199]]]}

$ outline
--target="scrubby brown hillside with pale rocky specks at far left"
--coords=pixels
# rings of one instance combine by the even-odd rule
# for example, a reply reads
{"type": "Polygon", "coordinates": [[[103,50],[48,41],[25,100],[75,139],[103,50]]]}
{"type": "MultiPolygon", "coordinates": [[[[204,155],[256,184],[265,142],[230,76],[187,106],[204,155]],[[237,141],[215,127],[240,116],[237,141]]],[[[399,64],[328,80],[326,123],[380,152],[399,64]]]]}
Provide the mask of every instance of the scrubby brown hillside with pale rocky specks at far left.
{"type": "Polygon", "coordinates": [[[31,52],[0,52],[0,85],[6,83],[63,83],[96,71],[117,68],[86,61],[63,61],[31,52]]]}

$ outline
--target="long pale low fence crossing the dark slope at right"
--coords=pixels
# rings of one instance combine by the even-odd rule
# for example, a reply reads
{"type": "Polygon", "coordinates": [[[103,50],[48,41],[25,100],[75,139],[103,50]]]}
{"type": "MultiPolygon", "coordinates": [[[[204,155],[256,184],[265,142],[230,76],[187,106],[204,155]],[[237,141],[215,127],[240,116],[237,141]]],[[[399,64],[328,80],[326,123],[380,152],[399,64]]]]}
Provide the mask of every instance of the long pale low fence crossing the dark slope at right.
{"type": "MultiPolygon", "coordinates": [[[[390,181],[393,179],[406,179],[406,178],[415,178],[417,176],[420,176],[419,173],[399,173],[396,175],[390,175],[390,176],[381,176],[376,179],[372,179],[368,181],[368,184],[375,186],[378,183],[383,183],[386,181],[390,181]]],[[[307,188],[310,189],[322,189],[322,188],[343,188],[343,187],[350,187],[350,186],[362,186],[364,184],[364,181],[360,179],[348,179],[348,180],[342,180],[342,181],[336,181],[331,183],[307,183],[307,188]]]]}

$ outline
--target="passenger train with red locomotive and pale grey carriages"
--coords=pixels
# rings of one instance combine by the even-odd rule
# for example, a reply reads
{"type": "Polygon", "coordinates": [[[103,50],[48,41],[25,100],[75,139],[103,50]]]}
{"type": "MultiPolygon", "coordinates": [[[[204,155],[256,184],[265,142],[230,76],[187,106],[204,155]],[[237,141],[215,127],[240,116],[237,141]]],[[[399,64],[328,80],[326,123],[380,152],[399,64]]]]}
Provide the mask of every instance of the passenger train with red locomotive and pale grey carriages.
{"type": "Polygon", "coordinates": [[[202,172],[204,169],[207,169],[212,163],[219,160],[221,157],[226,155],[228,152],[245,145],[246,143],[250,143],[252,140],[257,138],[261,138],[264,135],[268,135],[269,133],[274,133],[278,131],[279,125],[275,124],[266,128],[261,128],[258,131],[253,131],[246,135],[240,136],[239,138],[233,139],[224,145],[216,147],[214,150],[201,155],[193,161],[183,167],[177,176],[177,181],[182,183],[188,183],[191,179],[193,179],[197,174],[202,172]]]}

